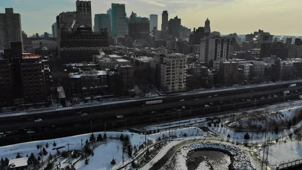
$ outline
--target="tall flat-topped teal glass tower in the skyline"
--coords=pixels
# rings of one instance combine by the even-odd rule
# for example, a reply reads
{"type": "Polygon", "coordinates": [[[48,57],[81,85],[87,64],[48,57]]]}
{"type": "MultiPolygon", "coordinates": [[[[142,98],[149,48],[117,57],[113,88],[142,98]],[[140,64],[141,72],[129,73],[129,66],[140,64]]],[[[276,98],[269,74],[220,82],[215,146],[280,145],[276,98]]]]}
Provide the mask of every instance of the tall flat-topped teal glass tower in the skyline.
{"type": "Polygon", "coordinates": [[[125,4],[111,4],[112,13],[112,34],[127,35],[125,4]]]}

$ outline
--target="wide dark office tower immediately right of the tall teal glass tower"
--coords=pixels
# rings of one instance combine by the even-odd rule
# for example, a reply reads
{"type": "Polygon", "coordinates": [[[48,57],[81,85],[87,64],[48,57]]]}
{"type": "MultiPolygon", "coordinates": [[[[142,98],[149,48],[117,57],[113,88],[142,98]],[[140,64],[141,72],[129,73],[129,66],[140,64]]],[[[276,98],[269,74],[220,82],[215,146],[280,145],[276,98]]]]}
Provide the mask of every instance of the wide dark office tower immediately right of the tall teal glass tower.
{"type": "Polygon", "coordinates": [[[146,17],[137,17],[132,12],[129,19],[129,36],[134,39],[147,39],[149,36],[149,19],[146,17]]]}

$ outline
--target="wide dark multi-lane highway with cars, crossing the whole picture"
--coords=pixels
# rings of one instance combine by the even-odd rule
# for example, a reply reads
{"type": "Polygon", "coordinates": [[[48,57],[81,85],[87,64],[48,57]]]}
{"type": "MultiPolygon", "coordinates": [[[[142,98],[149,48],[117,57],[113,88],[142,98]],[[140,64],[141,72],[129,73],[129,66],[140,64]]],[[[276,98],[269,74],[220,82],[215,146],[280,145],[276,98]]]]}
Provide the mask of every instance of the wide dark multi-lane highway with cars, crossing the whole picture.
{"type": "MultiPolygon", "coordinates": [[[[89,133],[91,131],[104,131],[104,124],[106,123],[106,130],[121,130],[131,129],[133,127],[141,127],[148,124],[158,124],[167,121],[177,121],[180,119],[187,119],[190,117],[207,117],[212,114],[223,115],[233,112],[239,108],[254,107],[254,99],[256,99],[256,107],[264,107],[268,104],[276,102],[284,102],[282,91],[284,88],[269,88],[264,91],[250,91],[238,94],[220,94],[217,97],[203,97],[199,100],[193,98],[185,99],[179,102],[179,98],[175,101],[145,105],[133,105],[132,107],[115,107],[92,109],[82,111],[88,115],[81,116],[75,112],[66,113],[51,113],[51,114],[34,114],[23,115],[17,117],[3,117],[0,119],[0,132],[9,131],[7,138],[1,138],[1,145],[26,142],[29,140],[53,139],[58,137],[66,137],[71,135],[78,135],[89,133]],[[277,95],[277,97],[269,96],[277,95]],[[262,98],[264,97],[264,98],[262,98]],[[208,104],[210,107],[204,107],[208,104]],[[176,111],[178,109],[186,109],[176,111]],[[156,113],[151,113],[156,111],[156,113]],[[117,119],[116,115],[124,115],[124,118],[117,119]],[[35,119],[42,119],[41,122],[34,122],[35,119]],[[28,134],[28,131],[34,133],[28,134]]],[[[297,86],[291,88],[291,91],[302,90],[302,87],[297,86]]],[[[299,92],[292,93],[286,96],[288,99],[297,99],[299,92]]],[[[90,108],[89,108],[90,109],[90,108]]]]}

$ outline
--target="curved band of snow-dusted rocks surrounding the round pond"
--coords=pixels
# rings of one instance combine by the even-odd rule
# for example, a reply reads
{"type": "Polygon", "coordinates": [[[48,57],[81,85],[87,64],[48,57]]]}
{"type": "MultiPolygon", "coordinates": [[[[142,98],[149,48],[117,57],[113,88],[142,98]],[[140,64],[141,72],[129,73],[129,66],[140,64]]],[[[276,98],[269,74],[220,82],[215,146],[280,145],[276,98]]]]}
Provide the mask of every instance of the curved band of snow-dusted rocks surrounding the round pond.
{"type": "MultiPolygon", "coordinates": [[[[252,169],[249,156],[244,151],[242,151],[239,147],[236,147],[234,145],[224,144],[224,143],[217,143],[217,142],[200,142],[200,143],[188,144],[182,147],[175,154],[176,165],[175,167],[172,168],[176,170],[187,169],[187,160],[189,157],[189,153],[191,151],[202,149],[202,148],[207,148],[207,149],[213,148],[213,149],[223,150],[231,154],[233,156],[232,166],[234,167],[234,169],[242,169],[242,170],[252,169]]],[[[169,161],[171,161],[171,159],[169,161]]],[[[201,166],[204,166],[204,164],[201,166]]]]}

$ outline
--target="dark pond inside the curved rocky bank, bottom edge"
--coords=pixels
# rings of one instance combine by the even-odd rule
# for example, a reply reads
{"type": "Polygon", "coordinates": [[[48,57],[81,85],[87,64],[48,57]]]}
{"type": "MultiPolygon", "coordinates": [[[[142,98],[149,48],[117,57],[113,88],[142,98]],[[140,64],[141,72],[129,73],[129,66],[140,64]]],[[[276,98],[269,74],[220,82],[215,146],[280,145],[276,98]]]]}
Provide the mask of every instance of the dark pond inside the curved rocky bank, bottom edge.
{"type": "Polygon", "coordinates": [[[224,170],[228,169],[228,165],[231,163],[231,159],[227,154],[224,154],[219,151],[196,151],[193,152],[188,161],[188,169],[196,169],[200,164],[200,161],[197,161],[199,157],[206,157],[208,162],[212,165],[214,170],[224,170]]]}

